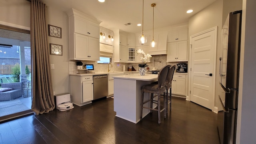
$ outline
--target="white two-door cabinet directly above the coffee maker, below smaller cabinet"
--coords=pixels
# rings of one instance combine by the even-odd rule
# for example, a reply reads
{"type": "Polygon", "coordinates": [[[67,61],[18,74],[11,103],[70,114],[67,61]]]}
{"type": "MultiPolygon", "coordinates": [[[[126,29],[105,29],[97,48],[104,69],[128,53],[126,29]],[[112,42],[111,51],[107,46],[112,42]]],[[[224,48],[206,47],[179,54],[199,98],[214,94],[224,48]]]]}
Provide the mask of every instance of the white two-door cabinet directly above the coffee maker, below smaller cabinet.
{"type": "Polygon", "coordinates": [[[167,62],[187,61],[187,42],[168,42],[167,62]]]}

